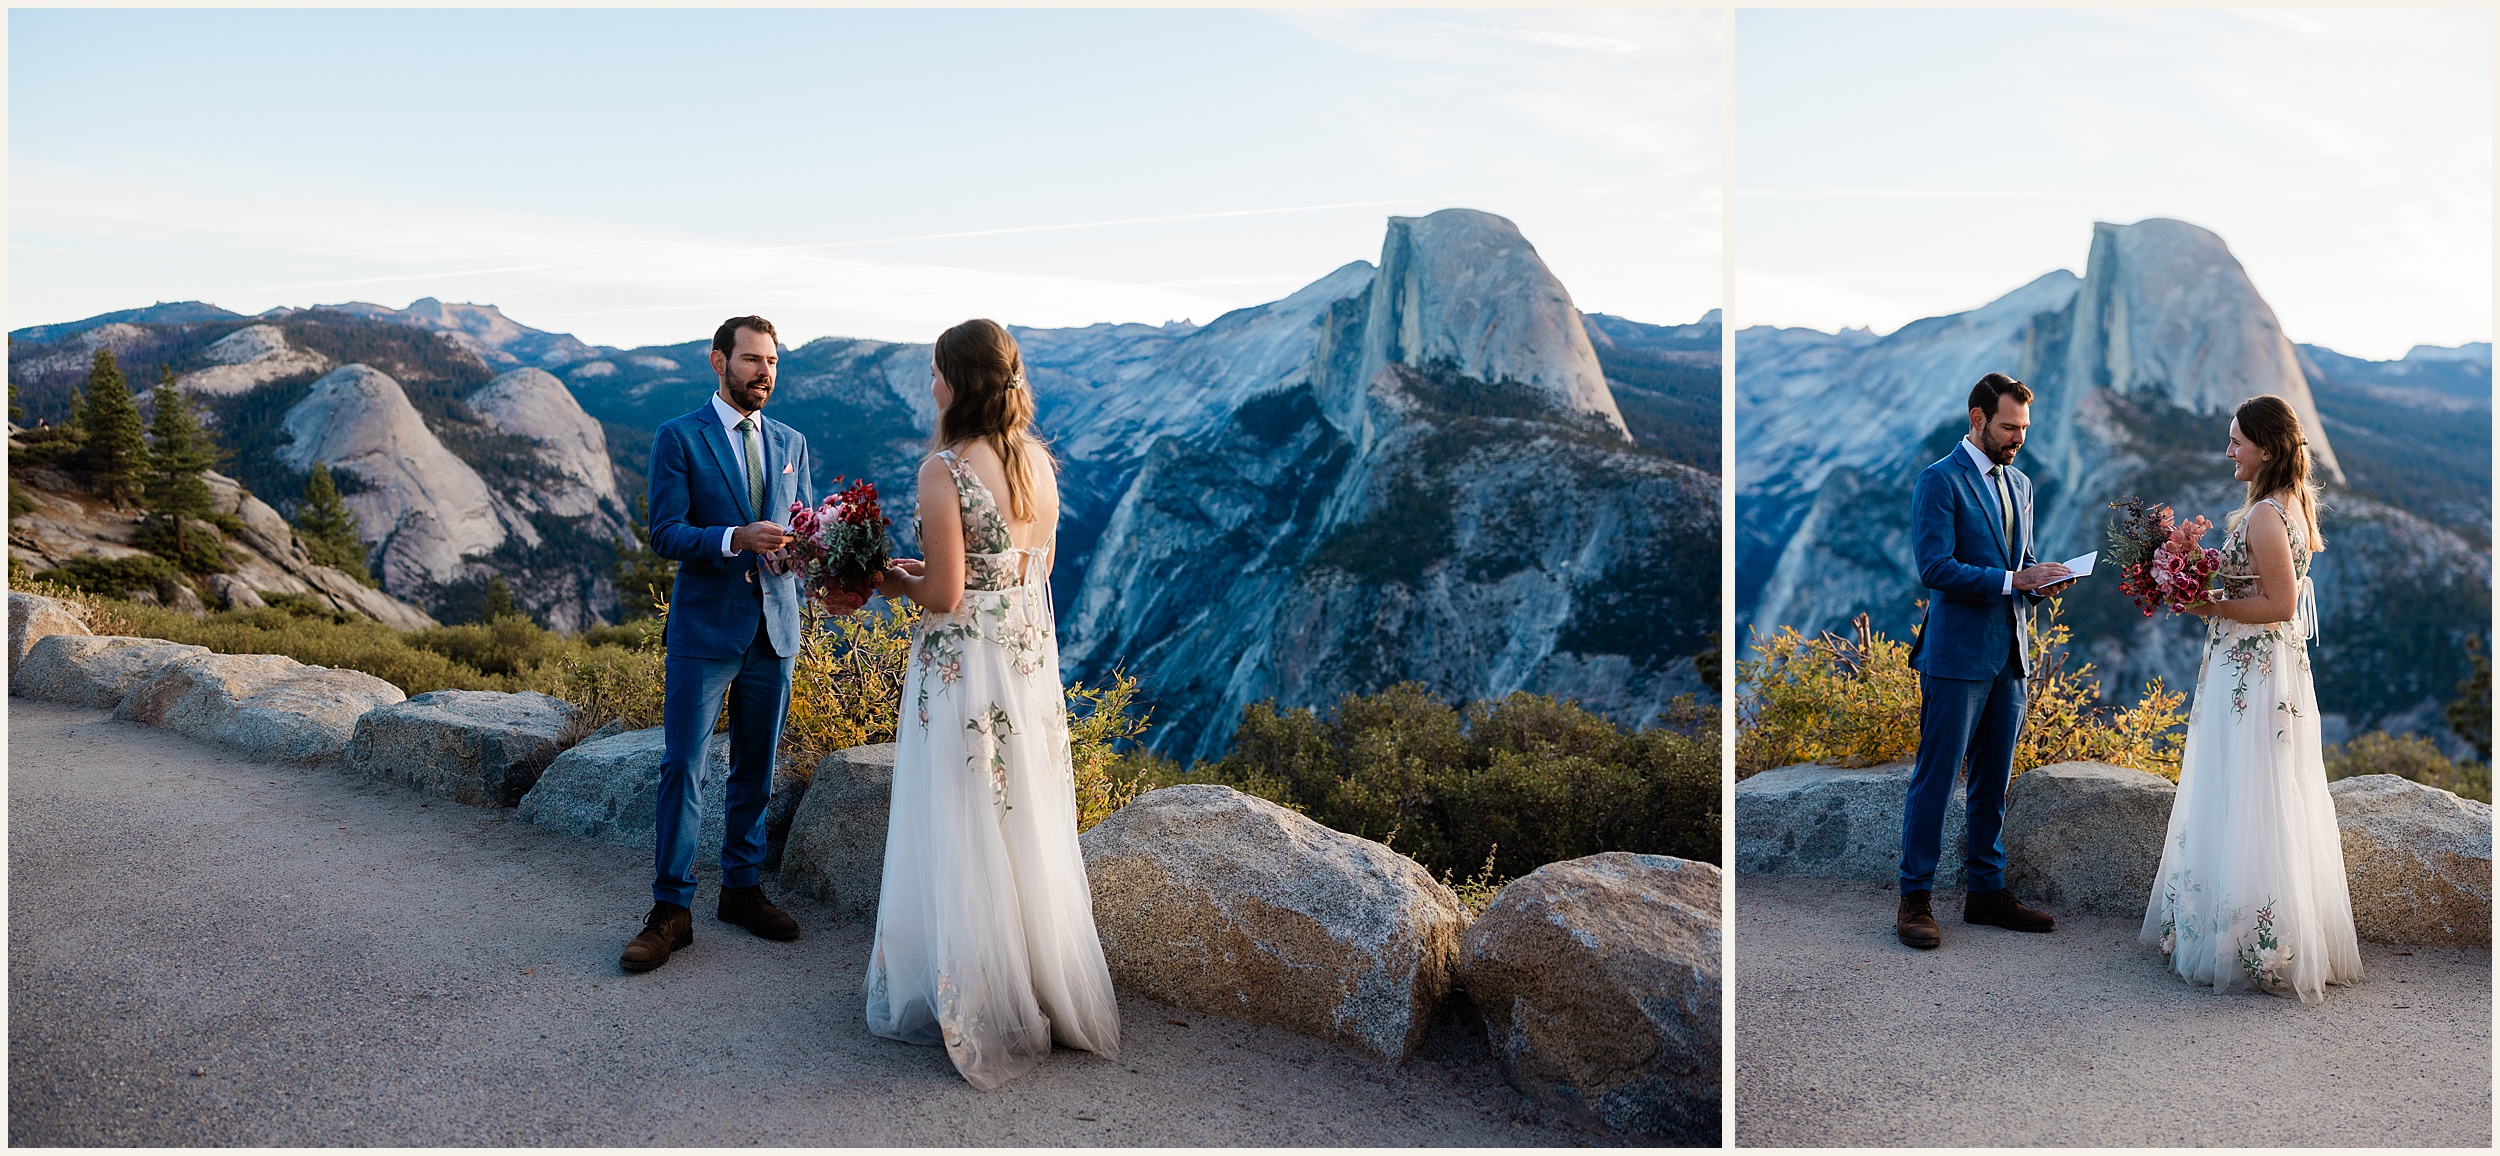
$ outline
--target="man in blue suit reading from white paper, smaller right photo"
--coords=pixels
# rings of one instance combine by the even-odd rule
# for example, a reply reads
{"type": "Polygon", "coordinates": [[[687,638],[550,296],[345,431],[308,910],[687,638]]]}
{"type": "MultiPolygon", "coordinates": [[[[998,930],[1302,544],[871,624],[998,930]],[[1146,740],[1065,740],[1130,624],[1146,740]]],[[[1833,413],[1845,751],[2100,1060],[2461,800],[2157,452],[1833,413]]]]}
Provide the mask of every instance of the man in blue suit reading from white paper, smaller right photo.
{"type": "Polygon", "coordinates": [[[1928,893],[1945,838],[1945,803],[1970,766],[1970,851],[1962,923],[2052,931],[2058,923],[2005,888],[2005,783],[2030,693],[2030,616],[2070,583],[2065,565],[2032,560],[2030,478],[2012,468],[2030,430],[2032,393],[1990,373],[1970,388],[1970,435],[1918,475],[1910,545],[1928,586],[1928,623],[1910,646],[1918,671],[1918,771],[1900,821],[1900,913],[1912,948],[1942,943],[1928,893]]]}

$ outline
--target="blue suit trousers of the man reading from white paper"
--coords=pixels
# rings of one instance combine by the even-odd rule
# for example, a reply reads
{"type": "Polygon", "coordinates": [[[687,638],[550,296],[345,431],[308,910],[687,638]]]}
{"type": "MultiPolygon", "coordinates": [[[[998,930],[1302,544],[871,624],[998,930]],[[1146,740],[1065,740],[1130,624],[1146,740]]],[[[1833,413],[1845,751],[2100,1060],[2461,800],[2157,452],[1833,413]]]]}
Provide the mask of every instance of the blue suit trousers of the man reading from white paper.
{"type": "Polygon", "coordinates": [[[1942,858],[1945,803],[1952,781],[1970,763],[1965,811],[1970,851],[1962,856],[1965,891],[2005,888],[2005,783],[2012,781],[2015,741],[2030,688],[2022,663],[2008,661],[1995,678],[1918,676],[1918,771],[1900,816],[1900,891],[1935,891],[1942,858]]]}

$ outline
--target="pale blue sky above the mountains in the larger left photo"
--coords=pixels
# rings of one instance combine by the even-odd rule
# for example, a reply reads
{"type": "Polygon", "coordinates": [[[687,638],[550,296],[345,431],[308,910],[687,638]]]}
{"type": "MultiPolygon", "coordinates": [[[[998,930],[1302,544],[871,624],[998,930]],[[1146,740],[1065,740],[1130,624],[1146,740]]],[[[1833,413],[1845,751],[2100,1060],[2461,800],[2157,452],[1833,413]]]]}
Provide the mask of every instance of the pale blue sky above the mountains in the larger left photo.
{"type": "Polygon", "coordinates": [[[1512,218],[1720,298],[1712,10],[12,10],[8,325],[420,295],[598,343],[1210,320],[1512,218]]]}

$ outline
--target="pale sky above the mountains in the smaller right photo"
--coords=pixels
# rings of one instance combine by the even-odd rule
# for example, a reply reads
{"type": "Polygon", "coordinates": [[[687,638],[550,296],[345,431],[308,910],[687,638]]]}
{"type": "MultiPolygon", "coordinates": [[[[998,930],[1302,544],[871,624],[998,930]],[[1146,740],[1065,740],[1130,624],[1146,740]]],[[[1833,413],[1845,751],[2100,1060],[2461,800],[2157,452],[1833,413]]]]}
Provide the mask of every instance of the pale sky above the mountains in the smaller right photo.
{"type": "Polygon", "coordinates": [[[1735,40],[1740,325],[1890,333],[2180,218],[2292,340],[2490,340],[2488,10],[1740,10],[1735,40]]]}

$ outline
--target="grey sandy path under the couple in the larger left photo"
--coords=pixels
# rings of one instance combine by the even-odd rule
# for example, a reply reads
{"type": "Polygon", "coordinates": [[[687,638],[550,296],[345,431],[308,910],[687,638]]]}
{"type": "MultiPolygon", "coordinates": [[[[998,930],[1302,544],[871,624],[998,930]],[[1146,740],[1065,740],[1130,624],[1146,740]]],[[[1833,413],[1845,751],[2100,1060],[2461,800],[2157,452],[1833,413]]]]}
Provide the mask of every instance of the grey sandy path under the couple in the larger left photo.
{"type": "Polygon", "coordinates": [[[1608,1143],[1455,1016],[1380,1068],[1122,996],[1118,1063],[980,1093],[868,1033],[870,928],[818,906],[770,943],[705,886],[695,946],[622,976],[645,851],[8,708],[10,1143],[1608,1143]]]}

